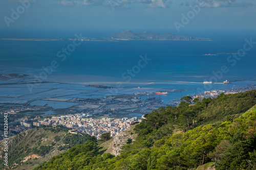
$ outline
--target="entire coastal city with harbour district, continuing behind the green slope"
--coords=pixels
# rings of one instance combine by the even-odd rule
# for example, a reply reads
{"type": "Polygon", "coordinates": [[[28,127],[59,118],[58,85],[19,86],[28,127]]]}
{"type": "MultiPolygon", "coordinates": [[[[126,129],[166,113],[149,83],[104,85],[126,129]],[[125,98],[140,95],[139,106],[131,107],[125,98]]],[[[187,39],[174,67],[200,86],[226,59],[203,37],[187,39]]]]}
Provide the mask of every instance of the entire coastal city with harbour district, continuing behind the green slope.
{"type": "MultiPolygon", "coordinates": [[[[221,93],[233,94],[252,89],[256,89],[256,84],[225,90],[204,91],[203,93],[190,95],[190,97],[192,101],[196,98],[201,101],[204,98],[217,98],[221,93]]],[[[132,124],[141,122],[144,119],[144,114],[150,113],[159,107],[176,107],[181,102],[180,99],[175,99],[164,104],[160,97],[156,98],[151,94],[152,92],[136,92],[98,99],[73,98],[70,102],[80,104],[67,108],[68,111],[67,109],[55,109],[59,113],[49,115],[37,114],[39,111],[44,112],[53,109],[46,105],[5,105],[0,107],[0,117],[3,117],[6,113],[9,115],[9,136],[36,127],[63,126],[74,129],[72,133],[87,133],[99,138],[102,133],[110,132],[111,136],[115,137],[132,124]],[[143,96],[147,97],[142,98],[143,96]]],[[[4,124],[1,124],[0,127],[1,134],[4,134],[2,133],[4,124]]],[[[3,135],[0,138],[3,138],[3,135]]]]}

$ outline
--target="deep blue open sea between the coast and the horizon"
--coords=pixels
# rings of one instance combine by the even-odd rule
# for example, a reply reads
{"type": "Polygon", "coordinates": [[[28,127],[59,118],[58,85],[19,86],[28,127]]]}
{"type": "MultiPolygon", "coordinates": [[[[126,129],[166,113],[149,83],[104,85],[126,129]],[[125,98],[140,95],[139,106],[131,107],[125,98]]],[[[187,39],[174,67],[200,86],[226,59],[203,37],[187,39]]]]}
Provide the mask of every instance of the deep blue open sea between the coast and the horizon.
{"type": "MultiPolygon", "coordinates": [[[[67,34],[69,36],[54,33],[40,34],[40,36],[36,33],[27,33],[27,36],[1,34],[0,38],[75,38],[74,34],[67,34]]],[[[116,87],[188,89],[182,91],[180,96],[196,93],[195,89],[200,88],[222,89],[249,83],[247,81],[229,85],[214,84],[210,89],[205,89],[203,84],[185,82],[220,83],[225,80],[256,78],[256,44],[253,44],[254,46],[251,46],[246,54],[239,54],[243,57],[232,57],[232,53],[243,52],[240,49],[244,48],[245,39],[256,42],[255,31],[208,30],[189,31],[184,34],[210,38],[211,41],[83,41],[74,51],[66,55],[65,60],[61,60],[63,58],[58,57],[58,52],[67,48],[73,41],[1,39],[0,70],[28,74],[30,78],[34,78],[41,72],[46,72],[43,67],[49,68],[54,61],[58,66],[48,70],[50,74],[45,75],[44,81],[116,87]],[[132,73],[129,74],[129,71],[132,73]]],[[[82,36],[91,38],[110,35],[110,32],[82,32],[82,36]]],[[[238,56],[238,54],[233,55],[238,56]]]]}

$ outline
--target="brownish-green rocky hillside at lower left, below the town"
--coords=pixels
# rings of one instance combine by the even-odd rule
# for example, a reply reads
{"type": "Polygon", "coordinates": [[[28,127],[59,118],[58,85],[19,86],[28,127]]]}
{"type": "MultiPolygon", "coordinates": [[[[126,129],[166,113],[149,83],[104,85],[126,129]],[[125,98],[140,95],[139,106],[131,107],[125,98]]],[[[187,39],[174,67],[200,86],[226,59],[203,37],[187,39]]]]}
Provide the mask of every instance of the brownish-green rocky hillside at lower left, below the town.
{"type": "MultiPolygon", "coordinates": [[[[89,135],[68,133],[64,128],[31,129],[9,138],[8,164],[11,169],[32,169],[52,156],[67,151],[76,144],[87,141],[89,135]]],[[[0,141],[1,145],[3,140],[0,141]]],[[[0,151],[3,159],[3,150],[0,151]]],[[[2,163],[2,162],[1,162],[2,163]]],[[[6,166],[3,163],[0,169],[6,166]]]]}

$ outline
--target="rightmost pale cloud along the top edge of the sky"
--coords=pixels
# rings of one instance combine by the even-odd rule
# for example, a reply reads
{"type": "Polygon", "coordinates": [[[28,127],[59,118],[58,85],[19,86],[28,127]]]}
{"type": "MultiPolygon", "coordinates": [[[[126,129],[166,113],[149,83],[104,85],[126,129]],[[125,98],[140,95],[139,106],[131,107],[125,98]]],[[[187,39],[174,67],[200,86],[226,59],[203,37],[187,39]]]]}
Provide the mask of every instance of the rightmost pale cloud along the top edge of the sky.
{"type": "Polygon", "coordinates": [[[201,4],[206,8],[221,8],[221,7],[248,7],[251,3],[237,2],[236,0],[197,0],[197,4],[201,4]]]}

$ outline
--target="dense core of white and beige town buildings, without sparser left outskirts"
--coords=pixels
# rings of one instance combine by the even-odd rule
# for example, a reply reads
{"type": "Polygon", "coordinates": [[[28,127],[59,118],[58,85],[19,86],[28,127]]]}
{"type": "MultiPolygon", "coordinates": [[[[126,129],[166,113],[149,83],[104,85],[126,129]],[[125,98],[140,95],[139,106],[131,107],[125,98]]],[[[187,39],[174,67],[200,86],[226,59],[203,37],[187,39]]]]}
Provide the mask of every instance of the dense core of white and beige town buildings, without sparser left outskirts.
{"type": "Polygon", "coordinates": [[[141,122],[142,119],[144,118],[144,115],[142,115],[141,118],[132,117],[130,119],[128,119],[127,117],[93,119],[92,117],[85,118],[86,116],[86,113],[81,113],[75,115],[45,118],[44,120],[41,120],[39,122],[34,122],[33,125],[37,127],[40,127],[42,125],[62,125],[63,127],[77,130],[70,131],[72,133],[87,133],[99,139],[100,135],[105,132],[110,132],[111,136],[115,137],[121,131],[129,128],[136,122],[141,122]]]}

